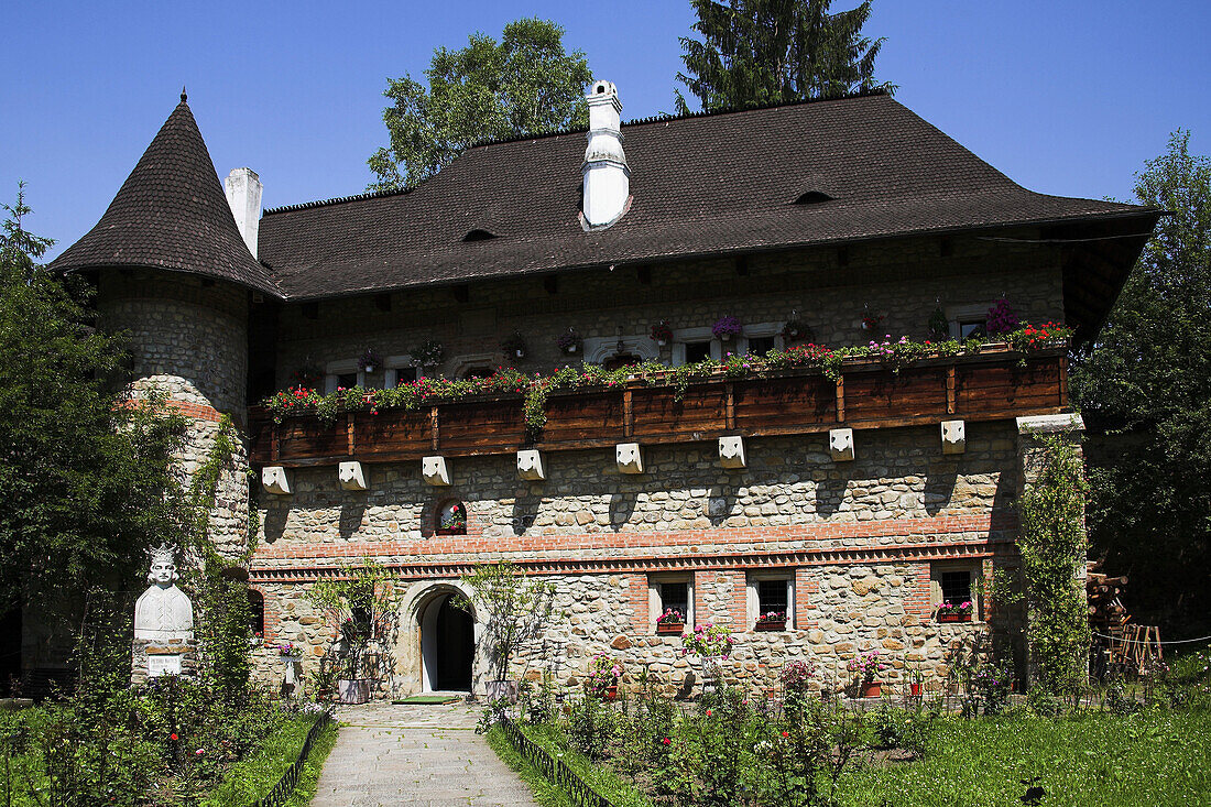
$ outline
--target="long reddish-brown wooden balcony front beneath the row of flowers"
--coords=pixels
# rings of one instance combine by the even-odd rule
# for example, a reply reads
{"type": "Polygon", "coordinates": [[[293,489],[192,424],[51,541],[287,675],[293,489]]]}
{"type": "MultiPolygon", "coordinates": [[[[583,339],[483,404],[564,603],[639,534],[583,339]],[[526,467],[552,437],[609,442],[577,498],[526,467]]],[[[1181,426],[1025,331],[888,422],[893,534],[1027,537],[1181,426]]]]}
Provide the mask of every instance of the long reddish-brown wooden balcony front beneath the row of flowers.
{"type": "Polygon", "coordinates": [[[894,373],[878,361],[846,360],[838,380],[819,371],[781,371],[759,378],[717,376],[676,400],[672,387],[632,382],[625,388],[552,393],[536,440],[526,434],[522,395],[492,395],[420,410],[368,408],[332,423],[314,414],[275,424],[249,412],[251,459],[260,465],[331,465],[356,459],[386,463],[427,454],[472,457],[518,448],[561,451],[695,442],[723,435],[763,437],[877,429],[940,420],[1001,420],[1068,410],[1067,359],[1056,348],[1022,356],[1005,350],[925,359],[894,373]]]}

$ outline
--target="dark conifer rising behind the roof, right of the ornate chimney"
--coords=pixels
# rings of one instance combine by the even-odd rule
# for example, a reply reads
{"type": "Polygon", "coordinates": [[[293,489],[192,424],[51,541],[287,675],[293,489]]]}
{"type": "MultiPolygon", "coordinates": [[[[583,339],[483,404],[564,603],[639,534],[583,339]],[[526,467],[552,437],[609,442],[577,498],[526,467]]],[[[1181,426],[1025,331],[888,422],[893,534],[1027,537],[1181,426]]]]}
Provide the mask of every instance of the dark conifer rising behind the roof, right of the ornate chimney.
{"type": "MultiPolygon", "coordinates": [[[[874,80],[883,39],[862,36],[871,0],[828,13],[832,0],[691,0],[694,30],[681,39],[677,74],[704,111],[825,98],[859,90],[894,91],[874,80]]],[[[677,91],[677,111],[689,105],[677,91]]]]}

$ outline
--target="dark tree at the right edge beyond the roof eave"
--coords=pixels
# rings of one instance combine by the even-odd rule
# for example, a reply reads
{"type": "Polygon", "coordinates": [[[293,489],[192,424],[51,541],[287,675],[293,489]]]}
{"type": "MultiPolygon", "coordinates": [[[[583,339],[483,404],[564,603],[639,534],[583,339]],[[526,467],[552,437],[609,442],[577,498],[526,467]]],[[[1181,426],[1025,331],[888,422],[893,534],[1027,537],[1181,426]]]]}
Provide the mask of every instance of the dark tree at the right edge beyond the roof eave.
{"type": "Polygon", "coordinates": [[[1073,393],[1090,431],[1095,553],[1131,577],[1136,622],[1211,629],[1211,160],[1177,131],[1137,174],[1163,217],[1073,393]]]}

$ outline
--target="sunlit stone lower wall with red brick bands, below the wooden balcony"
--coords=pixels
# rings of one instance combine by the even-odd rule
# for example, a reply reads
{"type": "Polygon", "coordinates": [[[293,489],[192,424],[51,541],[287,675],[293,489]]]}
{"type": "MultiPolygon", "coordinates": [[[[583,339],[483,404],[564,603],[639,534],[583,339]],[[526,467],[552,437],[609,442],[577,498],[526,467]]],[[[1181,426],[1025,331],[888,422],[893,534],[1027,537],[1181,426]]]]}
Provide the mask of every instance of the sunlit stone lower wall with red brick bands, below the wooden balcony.
{"type": "MultiPolygon", "coordinates": [[[[292,469],[294,494],[262,496],[263,534],[253,579],[265,596],[266,645],[302,641],[311,670],[334,639],[304,591],[317,570],[374,556],[407,585],[453,584],[453,566],[510,556],[544,562],[556,609],[541,637],[516,659],[516,675],[549,670],[576,685],[596,653],[647,666],[667,686],[693,691],[693,659],[679,639],[655,635],[655,576],[693,583],[695,622],[736,630],[727,675],[759,688],[788,658],[848,681],[857,651],[880,648],[902,681],[906,665],[936,680],[948,654],[991,628],[981,607],[969,624],[936,624],[932,568],[987,578],[1011,557],[1017,441],[1011,423],[968,424],[968,448],[943,456],[936,428],[860,431],[857,459],[834,463],[826,436],[748,441],[750,467],[719,468],[713,445],[649,447],[648,470],[621,475],[608,452],[547,457],[545,482],[516,479],[511,457],[452,462],[448,488],[420,480],[419,463],[367,467],[368,493],[339,490],[335,468],[292,469]],[[457,498],[466,536],[435,536],[434,513],[457,498]],[[748,583],[793,580],[791,629],[754,633],[748,583]]],[[[420,687],[415,614],[402,614],[389,687],[420,687]]],[[[281,677],[270,647],[265,680],[281,677]]],[[[481,657],[476,680],[484,675],[481,657]]]]}

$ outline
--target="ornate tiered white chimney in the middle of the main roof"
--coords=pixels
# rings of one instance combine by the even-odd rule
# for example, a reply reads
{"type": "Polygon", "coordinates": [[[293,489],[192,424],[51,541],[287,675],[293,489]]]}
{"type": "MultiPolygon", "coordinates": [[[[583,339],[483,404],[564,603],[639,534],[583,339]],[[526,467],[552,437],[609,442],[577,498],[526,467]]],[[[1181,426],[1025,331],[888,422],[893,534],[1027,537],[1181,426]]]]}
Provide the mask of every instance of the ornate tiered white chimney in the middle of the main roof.
{"type": "Polygon", "coordinates": [[[595,81],[585,101],[589,102],[589,148],[580,167],[585,177],[585,224],[609,227],[631,204],[631,170],[622,154],[622,104],[610,81],[595,81]]]}

